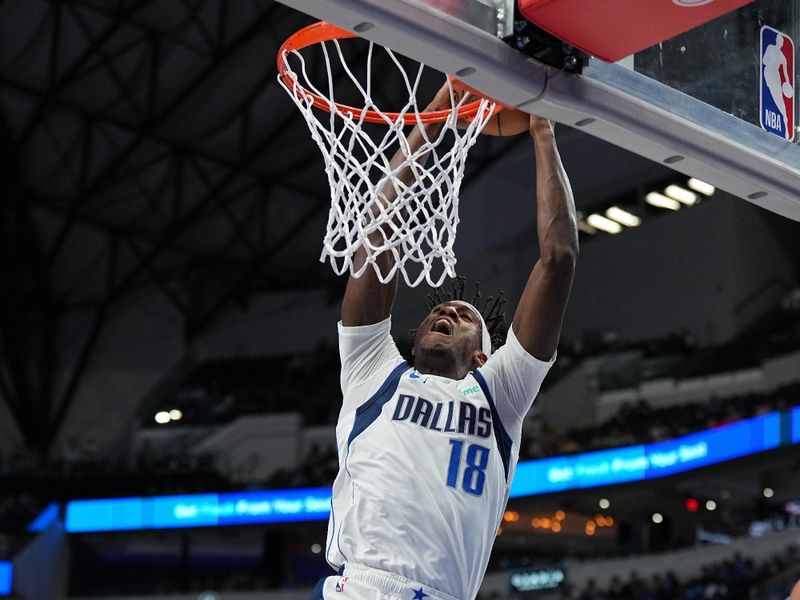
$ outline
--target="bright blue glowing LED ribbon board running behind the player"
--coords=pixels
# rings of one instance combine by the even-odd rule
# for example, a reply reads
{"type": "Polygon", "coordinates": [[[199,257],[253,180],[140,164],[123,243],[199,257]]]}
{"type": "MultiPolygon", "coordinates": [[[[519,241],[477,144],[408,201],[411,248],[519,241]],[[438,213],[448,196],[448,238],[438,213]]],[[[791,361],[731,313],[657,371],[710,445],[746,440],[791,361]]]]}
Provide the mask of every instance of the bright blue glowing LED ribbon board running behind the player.
{"type": "MultiPolygon", "coordinates": [[[[680,438],[519,463],[510,497],[666,477],[800,443],[800,407],[680,438]]],[[[74,500],[70,533],[324,521],[330,488],[74,500]]],[[[0,581],[2,581],[0,579],[0,581]]]]}

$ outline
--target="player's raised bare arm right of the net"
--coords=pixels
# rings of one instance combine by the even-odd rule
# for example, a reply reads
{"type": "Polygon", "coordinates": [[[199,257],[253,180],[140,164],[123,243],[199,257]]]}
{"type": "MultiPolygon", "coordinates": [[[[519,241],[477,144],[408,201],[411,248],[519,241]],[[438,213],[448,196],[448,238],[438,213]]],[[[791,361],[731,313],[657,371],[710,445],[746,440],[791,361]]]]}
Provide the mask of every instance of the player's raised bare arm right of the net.
{"type": "Polygon", "coordinates": [[[561,164],[553,124],[530,118],[536,153],[536,229],[540,258],[514,314],[514,334],[525,350],[548,361],[558,346],[575,262],[578,228],[569,179],[561,164]]]}

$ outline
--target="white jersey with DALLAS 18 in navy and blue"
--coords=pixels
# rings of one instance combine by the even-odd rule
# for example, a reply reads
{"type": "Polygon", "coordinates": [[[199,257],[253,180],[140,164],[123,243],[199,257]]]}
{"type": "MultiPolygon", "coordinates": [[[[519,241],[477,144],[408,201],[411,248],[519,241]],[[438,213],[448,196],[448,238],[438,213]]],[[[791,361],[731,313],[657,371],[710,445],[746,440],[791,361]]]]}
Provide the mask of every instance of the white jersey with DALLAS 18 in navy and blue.
{"type": "Polygon", "coordinates": [[[459,381],[418,373],[390,319],[339,324],[343,406],[336,426],[326,557],[454,596],[480,587],[519,457],[522,419],[548,369],[509,330],[459,381]]]}

